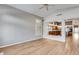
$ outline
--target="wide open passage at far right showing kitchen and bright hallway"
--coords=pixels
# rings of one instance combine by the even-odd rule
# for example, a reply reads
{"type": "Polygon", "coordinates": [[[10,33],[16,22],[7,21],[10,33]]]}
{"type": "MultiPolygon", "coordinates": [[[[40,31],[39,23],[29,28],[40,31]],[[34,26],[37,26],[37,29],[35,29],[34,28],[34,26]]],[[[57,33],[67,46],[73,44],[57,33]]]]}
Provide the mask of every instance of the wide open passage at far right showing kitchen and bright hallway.
{"type": "Polygon", "coordinates": [[[67,21],[66,24],[66,49],[76,50],[79,48],[79,21],[67,21]],[[68,22],[68,23],[67,23],[68,22]]]}

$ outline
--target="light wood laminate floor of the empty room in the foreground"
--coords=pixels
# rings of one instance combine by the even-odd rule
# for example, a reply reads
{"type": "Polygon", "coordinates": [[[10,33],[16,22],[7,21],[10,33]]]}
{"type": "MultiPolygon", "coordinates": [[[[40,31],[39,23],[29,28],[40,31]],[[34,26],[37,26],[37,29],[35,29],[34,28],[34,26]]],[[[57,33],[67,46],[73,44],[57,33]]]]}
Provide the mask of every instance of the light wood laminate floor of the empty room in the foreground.
{"type": "Polygon", "coordinates": [[[70,55],[79,54],[79,49],[66,51],[64,42],[39,39],[3,48],[3,53],[5,55],[70,55]]]}

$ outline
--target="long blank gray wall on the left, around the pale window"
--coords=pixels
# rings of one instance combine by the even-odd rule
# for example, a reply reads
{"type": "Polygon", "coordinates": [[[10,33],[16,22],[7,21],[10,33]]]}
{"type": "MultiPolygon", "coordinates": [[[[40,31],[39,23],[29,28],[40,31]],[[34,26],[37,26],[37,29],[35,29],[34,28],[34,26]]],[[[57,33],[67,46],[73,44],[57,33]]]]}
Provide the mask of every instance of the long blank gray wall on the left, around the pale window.
{"type": "Polygon", "coordinates": [[[38,16],[0,5],[0,46],[42,38],[35,35],[35,20],[38,16]]]}

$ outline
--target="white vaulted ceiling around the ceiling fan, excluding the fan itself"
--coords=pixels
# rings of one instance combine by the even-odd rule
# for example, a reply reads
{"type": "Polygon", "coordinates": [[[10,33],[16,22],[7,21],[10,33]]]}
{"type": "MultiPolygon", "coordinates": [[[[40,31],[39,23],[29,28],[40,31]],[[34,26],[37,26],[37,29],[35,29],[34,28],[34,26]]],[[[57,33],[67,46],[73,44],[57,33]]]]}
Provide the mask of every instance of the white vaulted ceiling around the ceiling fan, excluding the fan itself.
{"type": "Polygon", "coordinates": [[[29,12],[41,17],[46,17],[54,13],[66,12],[69,10],[79,8],[78,4],[55,4],[54,6],[52,4],[49,5],[48,11],[46,11],[45,9],[40,9],[41,6],[43,6],[42,4],[9,4],[9,5],[22,11],[29,12]]]}

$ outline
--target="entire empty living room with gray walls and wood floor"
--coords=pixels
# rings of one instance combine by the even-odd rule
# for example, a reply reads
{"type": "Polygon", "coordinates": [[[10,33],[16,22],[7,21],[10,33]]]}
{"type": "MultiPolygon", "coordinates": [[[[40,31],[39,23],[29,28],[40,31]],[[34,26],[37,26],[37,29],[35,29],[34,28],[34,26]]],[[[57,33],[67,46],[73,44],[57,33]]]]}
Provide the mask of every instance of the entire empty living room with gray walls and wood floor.
{"type": "Polygon", "coordinates": [[[78,4],[0,5],[1,54],[79,54],[78,12],[78,4]]]}

